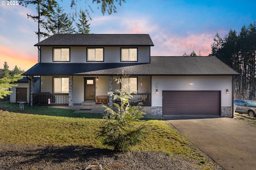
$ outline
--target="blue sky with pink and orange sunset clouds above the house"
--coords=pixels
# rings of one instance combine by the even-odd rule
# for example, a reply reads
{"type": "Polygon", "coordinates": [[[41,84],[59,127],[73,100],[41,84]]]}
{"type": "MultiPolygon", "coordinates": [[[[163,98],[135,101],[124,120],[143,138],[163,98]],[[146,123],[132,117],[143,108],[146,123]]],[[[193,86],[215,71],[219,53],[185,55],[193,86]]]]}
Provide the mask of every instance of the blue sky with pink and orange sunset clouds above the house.
{"type": "MultiPolygon", "coordinates": [[[[66,13],[72,12],[71,0],[57,1],[66,13]]],[[[80,6],[85,8],[84,0],[80,6]]],[[[239,32],[256,21],[254,0],[126,0],[116,6],[117,13],[103,16],[92,4],[90,33],[149,34],[152,56],[182,56],[193,50],[208,55],[216,33],[224,37],[230,29],[239,32]]],[[[37,63],[37,23],[26,15],[35,12],[33,6],[0,5],[0,68],[6,61],[10,70],[17,65],[26,71],[37,63]]]]}

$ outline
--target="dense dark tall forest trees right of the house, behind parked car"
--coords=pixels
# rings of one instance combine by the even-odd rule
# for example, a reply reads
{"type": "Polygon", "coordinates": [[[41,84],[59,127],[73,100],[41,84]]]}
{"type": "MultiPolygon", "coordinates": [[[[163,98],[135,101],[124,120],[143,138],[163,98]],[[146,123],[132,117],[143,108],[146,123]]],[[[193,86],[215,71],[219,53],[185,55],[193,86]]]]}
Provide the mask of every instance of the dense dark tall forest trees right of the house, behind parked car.
{"type": "Polygon", "coordinates": [[[239,32],[230,29],[224,37],[217,33],[211,47],[210,55],[240,74],[234,79],[234,98],[255,100],[256,22],[244,25],[239,32]]]}

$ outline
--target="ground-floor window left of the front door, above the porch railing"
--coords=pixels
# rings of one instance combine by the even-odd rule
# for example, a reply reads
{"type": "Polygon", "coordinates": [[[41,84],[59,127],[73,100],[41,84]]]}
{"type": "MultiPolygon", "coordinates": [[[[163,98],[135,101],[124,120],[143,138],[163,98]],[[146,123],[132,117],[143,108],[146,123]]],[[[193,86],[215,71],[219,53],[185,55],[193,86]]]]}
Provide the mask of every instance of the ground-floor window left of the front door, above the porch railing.
{"type": "Polygon", "coordinates": [[[68,77],[54,77],[53,80],[54,93],[68,93],[68,77]]]}

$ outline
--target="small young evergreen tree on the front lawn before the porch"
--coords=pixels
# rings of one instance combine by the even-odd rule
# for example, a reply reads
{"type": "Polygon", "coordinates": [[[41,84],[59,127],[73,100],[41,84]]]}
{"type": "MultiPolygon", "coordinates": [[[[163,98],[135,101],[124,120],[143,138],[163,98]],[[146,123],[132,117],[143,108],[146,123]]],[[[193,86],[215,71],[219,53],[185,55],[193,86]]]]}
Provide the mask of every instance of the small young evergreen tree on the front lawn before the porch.
{"type": "MultiPolygon", "coordinates": [[[[122,84],[123,78],[114,78],[117,83],[122,84]]],[[[108,92],[109,96],[113,96],[113,100],[120,101],[120,104],[113,103],[114,109],[104,106],[106,114],[104,115],[104,123],[100,127],[98,137],[104,145],[113,147],[115,152],[124,152],[130,150],[131,146],[137,145],[146,137],[145,125],[136,125],[136,121],[140,121],[143,117],[144,110],[141,108],[142,103],[138,106],[130,106],[131,94],[137,92],[124,92],[130,86],[129,83],[121,86],[120,90],[108,92]]]]}

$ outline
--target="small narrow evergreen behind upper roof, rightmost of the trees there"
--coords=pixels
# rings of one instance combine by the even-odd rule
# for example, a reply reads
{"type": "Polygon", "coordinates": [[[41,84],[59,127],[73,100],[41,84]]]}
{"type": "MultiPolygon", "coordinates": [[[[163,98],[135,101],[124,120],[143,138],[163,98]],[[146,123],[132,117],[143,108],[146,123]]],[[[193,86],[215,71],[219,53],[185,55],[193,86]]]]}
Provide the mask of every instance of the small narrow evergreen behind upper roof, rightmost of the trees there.
{"type": "Polygon", "coordinates": [[[79,18],[80,23],[76,23],[76,26],[78,28],[78,31],[76,31],[76,33],[88,34],[90,32],[90,24],[87,24],[89,20],[86,20],[86,15],[84,11],[80,10],[79,18]]]}

